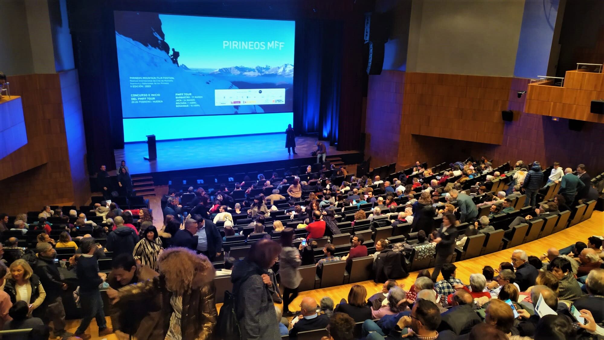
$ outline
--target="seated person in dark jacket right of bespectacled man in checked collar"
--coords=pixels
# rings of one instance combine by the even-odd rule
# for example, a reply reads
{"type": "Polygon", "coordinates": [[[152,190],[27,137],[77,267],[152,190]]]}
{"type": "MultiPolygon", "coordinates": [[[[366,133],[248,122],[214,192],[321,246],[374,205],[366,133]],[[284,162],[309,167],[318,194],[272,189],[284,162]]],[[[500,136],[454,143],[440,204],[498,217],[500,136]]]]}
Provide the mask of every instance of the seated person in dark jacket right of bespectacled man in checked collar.
{"type": "Polygon", "coordinates": [[[451,308],[442,313],[442,323],[439,330],[451,330],[456,335],[469,332],[474,325],[481,322],[477,313],[472,310],[474,299],[465,290],[457,290],[453,294],[451,308]]]}

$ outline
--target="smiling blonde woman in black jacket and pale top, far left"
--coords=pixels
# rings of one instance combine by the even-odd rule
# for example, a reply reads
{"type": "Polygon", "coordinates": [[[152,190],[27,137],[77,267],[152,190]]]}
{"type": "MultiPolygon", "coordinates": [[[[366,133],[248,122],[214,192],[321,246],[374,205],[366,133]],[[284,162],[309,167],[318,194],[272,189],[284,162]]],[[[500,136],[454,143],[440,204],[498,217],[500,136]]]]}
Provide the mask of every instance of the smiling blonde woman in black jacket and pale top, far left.
{"type": "MultiPolygon", "coordinates": [[[[4,291],[8,293],[13,304],[17,301],[25,301],[30,313],[33,312],[42,305],[46,298],[40,278],[34,274],[31,266],[22,258],[11,263],[9,269],[10,275],[6,279],[4,291]]],[[[43,311],[36,311],[36,314],[40,312],[43,311]]]]}

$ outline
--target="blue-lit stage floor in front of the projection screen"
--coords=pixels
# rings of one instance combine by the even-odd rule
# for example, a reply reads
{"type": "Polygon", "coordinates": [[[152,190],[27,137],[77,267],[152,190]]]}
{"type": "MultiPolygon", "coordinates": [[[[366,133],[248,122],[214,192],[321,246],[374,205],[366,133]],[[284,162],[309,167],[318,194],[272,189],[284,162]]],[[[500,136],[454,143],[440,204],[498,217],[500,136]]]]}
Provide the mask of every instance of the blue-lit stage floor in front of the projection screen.
{"type": "MultiPolygon", "coordinates": [[[[114,154],[118,168],[121,160],[125,160],[130,174],[136,175],[307,158],[310,152],[316,150],[316,141],[317,138],[313,136],[296,137],[298,154],[289,156],[284,133],[159,141],[157,159],[153,161],[143,159],[147,156],[147,143],[144,142],[127,143],[124,149],[115,149],[114,154]]],[[[327,157],[356,152],[336,151],[335,146],[327,147],[327,157]]]]}

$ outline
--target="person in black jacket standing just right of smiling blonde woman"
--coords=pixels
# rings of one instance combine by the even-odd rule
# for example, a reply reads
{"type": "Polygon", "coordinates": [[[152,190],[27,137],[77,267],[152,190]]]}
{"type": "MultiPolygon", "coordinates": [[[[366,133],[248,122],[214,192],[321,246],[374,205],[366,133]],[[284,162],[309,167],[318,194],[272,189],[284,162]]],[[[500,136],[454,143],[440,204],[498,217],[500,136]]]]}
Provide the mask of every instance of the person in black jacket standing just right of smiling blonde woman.
{"type": "Polygon", "coordinates": [[[40,242],[36,246],[36,253],[35,272],[39,276],[42,286],[46,287],[46,298],[42,302],[42,308],[40,308],[45,313],[43,315],[40,314],[40,318],[43,319],[45,324],[53,321],[54,336],[69,338],[72,334],[65,330],[65,309],[63,307],[63,299],[61,298],[63,290],[66,290],[68,287],[62,281],[59,268],[54,263],[54,259],[57,258],[57,252],[50,243],[40,242]]]}

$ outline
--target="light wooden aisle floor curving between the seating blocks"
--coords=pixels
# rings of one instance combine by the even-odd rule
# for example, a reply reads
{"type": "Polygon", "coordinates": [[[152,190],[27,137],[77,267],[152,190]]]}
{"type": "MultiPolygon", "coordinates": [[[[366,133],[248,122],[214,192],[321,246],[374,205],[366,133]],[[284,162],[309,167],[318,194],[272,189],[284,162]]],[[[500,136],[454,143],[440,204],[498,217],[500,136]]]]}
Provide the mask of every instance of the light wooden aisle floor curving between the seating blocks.
{"type": "MultiPolygon", "coordinates": [[[[157,203],[155,204],[159,204],[159,198],[156,198],[156,200],[157,203]]],[[[604,235],[604,212],[594,211],[594,214],[592,215],[590,220],[579,223],[576,226],[572,226],[548,237],[540,238],[539,240],[522,244],[518,247],[518,249],[525,250],[528,255],[540,256],[550,247],[562,249],[572,243],[575,243],[576,241],[586,242],[587,238],[591,235],[604,235]]],[[[513,250],[514,249],[510,248],[506,250],[501,250],[500,252],[490,253],[489,255],[455,262],[455,266],[457,266],[457,278],[463,281],[463,283],[469,284],[469,276],[472,273],[482,272],[484,266],[492,266],[493,268],[496,268],[501,262],[510,261],[513,250]]],[[[432,271],[432,269],[430,269],[430,271],[432,271]]],[[[405,284],[405,287],[409,288],[416,280],[416,276],[417,272],[412,272],[410,273],[408,278],[397,281],[399,282],[399,284],[405,284]]],[[[362,286],[364,286],[365,289],[367,289],[368,295],[372,295],[382,289],[382,284],[376,284],[373,281],[364,281],[361,283],[354,284],[361,284],[362,286]]],[[[301,292],[300,295],[298,295],[298,297],[294,299],[294,301],[289,305],[289,309],[292,311],[300,310],[300,302],[305,296],[312,296],[316,299],[317,302],[320,301],[320,299],[324,296],[329,296],[337,304],[341,298],[346,298],[348,296],[348,292],[350,290],[350,287],[352,286],[353,284],[344,284],[338,287],[315,289],[307,292],[301,292]]],[[[216,305],[216,307],[218,308],[220,308],[220,306],[222,306],[222,304],[216,305]]],[[[109,318],[106,319],[108,320],[108,325],[111,325],[111,321],[109,320],[109,318]]],[[[79,320],[69,321],[68,330],[70,332],[73,332],[74,330],[76,330],[77,325],[79,325],[79,320]]],[[[92,339],[101,339],[96,336],[98,334],[98,328],[94,320],[92,321],[89,330],[92,332],[92,339]]],[[[110,335],[107,336],[106,339],[112,340],[117,338],[115,337],[115,335],[110,335]]]]}

